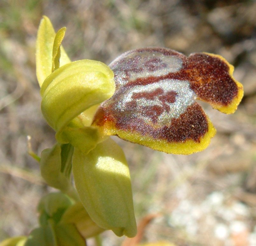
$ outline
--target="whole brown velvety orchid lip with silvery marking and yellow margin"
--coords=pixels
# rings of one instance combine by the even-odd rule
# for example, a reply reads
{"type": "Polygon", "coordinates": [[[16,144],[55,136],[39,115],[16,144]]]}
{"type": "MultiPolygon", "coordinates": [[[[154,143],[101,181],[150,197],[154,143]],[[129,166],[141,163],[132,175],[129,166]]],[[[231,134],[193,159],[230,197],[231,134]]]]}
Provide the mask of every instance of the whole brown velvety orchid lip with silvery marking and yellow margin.
{"type": "Polygon", "coordinates": [[[216,133],[196,99],[223,113],[234,113],[243,86],[233,66],[209,53],[189,57],[165,48],[128,51],[110,65],[116,91],[95,114],[93,126],[172,154],[206,148],[216,133]]]}

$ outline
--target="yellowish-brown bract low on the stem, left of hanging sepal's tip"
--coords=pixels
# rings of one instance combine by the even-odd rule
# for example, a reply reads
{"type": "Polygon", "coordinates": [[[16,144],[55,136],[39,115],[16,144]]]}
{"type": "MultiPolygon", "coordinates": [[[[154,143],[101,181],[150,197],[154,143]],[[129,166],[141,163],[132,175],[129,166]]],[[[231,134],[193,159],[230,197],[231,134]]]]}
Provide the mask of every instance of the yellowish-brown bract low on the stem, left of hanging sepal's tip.
{"type": "Polygon", "coordinates": [[[60,223],[74,224],[84,238],[96,236],[104,231],[93,222],[81,202],[67,208],[61,217],[60,223]]]}

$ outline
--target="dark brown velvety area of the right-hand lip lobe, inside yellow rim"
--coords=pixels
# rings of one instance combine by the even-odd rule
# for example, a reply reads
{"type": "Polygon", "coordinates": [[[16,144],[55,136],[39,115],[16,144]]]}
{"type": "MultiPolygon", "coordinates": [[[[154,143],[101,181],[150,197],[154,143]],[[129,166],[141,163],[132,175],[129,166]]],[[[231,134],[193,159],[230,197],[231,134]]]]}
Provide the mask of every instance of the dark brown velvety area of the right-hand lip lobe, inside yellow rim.
{"type": "Polygon", "coordinates": [[[224,59],[206,53],[191,54],[184,67],[191,89],[198,98],[228,106],[238,95],[238,85],[230,75],[230,66],[224,59]]]}

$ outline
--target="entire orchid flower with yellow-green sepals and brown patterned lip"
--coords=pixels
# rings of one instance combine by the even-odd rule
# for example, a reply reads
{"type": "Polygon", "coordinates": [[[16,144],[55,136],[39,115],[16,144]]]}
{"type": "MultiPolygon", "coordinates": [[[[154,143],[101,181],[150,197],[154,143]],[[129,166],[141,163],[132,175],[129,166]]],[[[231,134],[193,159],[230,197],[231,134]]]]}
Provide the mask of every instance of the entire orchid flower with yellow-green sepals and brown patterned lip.
{"type": "Polygon", "coordinates": [[[57,140],[42,152],[41,174],[49,185],[80,200],[100,228],[133,237],[129,168],[109,136],[172,154],[201,151],[216,130],[196,99],[234,113],[243,86],[232,77],[232,65],[208,53],[186,57],[170,49],[142,48],[109,66],[71,62],[61,46],[65,31],[55,34],[47,17],[38,30],[41,109],[57,140]]]}

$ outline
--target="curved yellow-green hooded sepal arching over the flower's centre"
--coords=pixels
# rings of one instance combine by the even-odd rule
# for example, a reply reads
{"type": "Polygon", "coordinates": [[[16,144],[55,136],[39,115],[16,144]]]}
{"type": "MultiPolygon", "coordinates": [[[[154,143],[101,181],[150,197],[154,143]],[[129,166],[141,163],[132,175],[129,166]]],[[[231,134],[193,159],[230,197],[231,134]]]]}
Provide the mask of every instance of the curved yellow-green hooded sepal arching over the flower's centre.
{"type": "Polygon", "coordinates": [[[57,140],[67,143],[61,137],[64,127],[86,109],[109,99],[114,90],[112,70],[98,61],[75,61],[52,72],[41,87],[41,109],[57,132],[57,140]]]}

